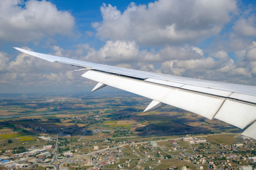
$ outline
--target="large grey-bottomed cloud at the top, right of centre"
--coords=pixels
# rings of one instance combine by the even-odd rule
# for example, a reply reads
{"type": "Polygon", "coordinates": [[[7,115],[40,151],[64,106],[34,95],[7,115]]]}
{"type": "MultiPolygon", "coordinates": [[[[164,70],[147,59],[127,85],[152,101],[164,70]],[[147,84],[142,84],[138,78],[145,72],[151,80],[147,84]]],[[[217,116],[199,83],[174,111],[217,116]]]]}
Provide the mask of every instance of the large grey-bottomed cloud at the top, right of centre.
{"type": "Polygon", "coordinates": [[[100,10],[103,21],[92,26],[102,39],[164,45],[195,43],[218,34],[237,6],[235,0],[159,0],[131,3],[123,13],[110,4],[100,10]]]}

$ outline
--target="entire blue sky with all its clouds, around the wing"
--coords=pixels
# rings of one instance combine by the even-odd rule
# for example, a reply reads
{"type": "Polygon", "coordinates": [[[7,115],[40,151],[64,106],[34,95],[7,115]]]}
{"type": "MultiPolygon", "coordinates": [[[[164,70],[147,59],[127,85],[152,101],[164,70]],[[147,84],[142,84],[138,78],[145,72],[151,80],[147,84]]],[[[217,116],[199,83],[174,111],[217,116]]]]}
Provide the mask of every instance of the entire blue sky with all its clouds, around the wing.
{"type": "Polygon", "coordinates": [[[75,67],[12,47],[164,74],[256,85],[256,2],[2,0],[0,93],[88,91],[75,67]]]}

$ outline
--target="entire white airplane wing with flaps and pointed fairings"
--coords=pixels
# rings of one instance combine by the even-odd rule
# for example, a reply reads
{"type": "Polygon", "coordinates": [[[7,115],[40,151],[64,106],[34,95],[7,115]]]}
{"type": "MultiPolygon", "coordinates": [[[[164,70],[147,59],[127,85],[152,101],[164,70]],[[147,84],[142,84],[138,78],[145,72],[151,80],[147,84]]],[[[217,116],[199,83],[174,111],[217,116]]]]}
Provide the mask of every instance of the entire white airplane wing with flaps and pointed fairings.
{"type": "Polygon", "coordinates": [[[256,139],[256,86],[158,74],[14,48],[87,70],[82,77],[98,82],[92,92],[110,85],[152,99],[144,112],[172,105],[235,125],[244,129],[242,135],[256,139]]]}

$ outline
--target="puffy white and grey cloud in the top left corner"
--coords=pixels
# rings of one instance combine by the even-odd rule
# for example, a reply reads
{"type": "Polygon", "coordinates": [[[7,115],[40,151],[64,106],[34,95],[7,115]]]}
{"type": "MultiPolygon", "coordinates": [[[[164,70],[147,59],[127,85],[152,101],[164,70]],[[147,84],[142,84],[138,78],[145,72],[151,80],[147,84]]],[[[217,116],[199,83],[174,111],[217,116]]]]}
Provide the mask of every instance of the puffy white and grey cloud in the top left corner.
{"type": "Polygon", "coordinates": [[[46,35],[71,35],[74,17],[46,0],[1,0],[0,40],[28,42],[46,35]]]}

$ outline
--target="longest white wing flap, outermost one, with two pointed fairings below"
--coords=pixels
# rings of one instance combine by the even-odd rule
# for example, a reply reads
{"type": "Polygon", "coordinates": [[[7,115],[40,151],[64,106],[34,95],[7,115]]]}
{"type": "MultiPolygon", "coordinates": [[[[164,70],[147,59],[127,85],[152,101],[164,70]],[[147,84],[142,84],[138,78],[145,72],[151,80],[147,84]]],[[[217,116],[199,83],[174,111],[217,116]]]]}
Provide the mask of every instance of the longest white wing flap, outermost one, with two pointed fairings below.
{"type": "Polygon", "coordinates": [[[158,85],[143,80],[131,79],[103,72],[87,71],[82,77],[101,82],[122,90],[148,97],[168,105],[182,108],[212,119],[225,98],[203,93],[158,85]]]}

